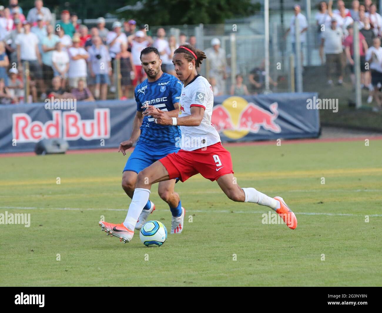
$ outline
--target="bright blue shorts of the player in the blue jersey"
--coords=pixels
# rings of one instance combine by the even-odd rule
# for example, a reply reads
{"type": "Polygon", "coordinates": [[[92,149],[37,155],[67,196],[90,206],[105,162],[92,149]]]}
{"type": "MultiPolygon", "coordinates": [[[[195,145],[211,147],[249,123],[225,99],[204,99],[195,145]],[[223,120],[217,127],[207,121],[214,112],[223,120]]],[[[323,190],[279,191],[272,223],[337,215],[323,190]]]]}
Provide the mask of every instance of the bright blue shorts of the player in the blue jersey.
{"type": "Polygon", "coordinates": [[[138,174],[140,171],[142,171],[147,166],[150,166],[155,161],[164,158],[170,153],[178,152],[179,150],[180,148],[176,147],[175,145],[171,147],[160,147],[153,149],[146,143],[138,141],[133,153],[131,153],[129,159],[126,162],[123,171],[133,171],[138,174]]]}

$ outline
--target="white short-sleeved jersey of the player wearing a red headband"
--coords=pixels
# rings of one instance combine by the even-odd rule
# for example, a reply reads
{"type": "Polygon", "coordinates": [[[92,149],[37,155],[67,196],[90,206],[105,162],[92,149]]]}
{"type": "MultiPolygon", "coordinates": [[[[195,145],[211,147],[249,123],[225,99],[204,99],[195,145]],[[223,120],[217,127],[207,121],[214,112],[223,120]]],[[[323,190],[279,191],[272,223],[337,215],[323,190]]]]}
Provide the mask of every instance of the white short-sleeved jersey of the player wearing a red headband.
{"type": "Polygon", "coordinates": [[[197,75],[186,87],[182,87],[179,101],[179,117],[191,115],[191,107],[204,108],[204,116],[199,126],[180,126],[182,132],[181,149],[193,151],[220,142],[220,136],[211,123],[214,95],[208,80],[197,75]]]}

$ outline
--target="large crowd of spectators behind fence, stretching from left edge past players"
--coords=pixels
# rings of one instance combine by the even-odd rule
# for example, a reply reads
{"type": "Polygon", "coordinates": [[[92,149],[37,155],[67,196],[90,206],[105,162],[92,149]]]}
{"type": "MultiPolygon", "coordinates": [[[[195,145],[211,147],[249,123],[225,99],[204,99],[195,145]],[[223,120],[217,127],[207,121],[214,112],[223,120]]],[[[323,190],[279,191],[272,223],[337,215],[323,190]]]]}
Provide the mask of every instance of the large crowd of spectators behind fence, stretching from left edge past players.
{"type": "MultiPolygon", "coordinates": [[[[105,100],[116,92],[115,59],[120,60],[122,99],[132,98],[134,87],[146,79],[140,60],[142,49],[156,47],[163,72],[175,75],[175,49],[182,44],[196,46],[195,36],[166,36],[163,28],[151,36],[146,26],[138,26],[134,20],[115,21],[107,29],[105,19],[100,17],[97,26],[88,29],[78,24],[74,12],[63,10],[59,18],[53,24],[52,13],[42,0],[36,0],[28,12],[23,11],[18,0],[10,0],[7,8],[0,6],[0,104],[44,101],[52,96],[105,100]],[[27,65],[30,99],[25,99],[23,90],[27,65]]],[[[215,95],[262,91],[265,74],[261,66],[247,77],[248,89],[241,75],[231,88],[226,87],[227,57],[218,38],[212,39],[206,55],[207,77],[215,95]]]]}

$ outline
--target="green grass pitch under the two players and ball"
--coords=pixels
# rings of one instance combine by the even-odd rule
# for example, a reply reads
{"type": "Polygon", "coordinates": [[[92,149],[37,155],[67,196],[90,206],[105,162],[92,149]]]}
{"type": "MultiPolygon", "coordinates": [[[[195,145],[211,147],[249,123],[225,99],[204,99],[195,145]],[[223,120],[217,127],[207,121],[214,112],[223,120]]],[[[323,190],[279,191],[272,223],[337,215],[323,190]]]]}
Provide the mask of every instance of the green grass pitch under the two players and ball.
{"type": "MultiPolygon", "coordinates": [[[[381,140],[228,150],[238,184],[283,197],[296,230],[263,224],[267,207],[231,202],[197,175],[176,184],[186,209],[183,233],[169,234],[160,248],[145,247],[138,231],[122,244],[98,221],[126,216],[130,200],[120,181],[128,155],[0,158],[0,213],[31,214],[30,227],[0,224],[0,285],[382,285],[381,140]]],[[[150,218],[169,231],[170,210],[157,186],[151,200],[150,218]]]]}

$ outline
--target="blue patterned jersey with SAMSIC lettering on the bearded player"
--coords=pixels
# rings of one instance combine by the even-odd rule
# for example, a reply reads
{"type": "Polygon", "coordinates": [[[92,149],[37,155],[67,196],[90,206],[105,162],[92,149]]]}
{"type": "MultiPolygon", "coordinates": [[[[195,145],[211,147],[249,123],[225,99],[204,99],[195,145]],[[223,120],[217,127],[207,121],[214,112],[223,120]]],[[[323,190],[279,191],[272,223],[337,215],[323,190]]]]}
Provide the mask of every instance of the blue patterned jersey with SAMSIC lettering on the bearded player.
{"type": "MultiPolygon", "coordinates": [[[[174,76],[163,73],[155,82],[144,82],[136,86],[134,91],[137,111],[141,106],[149,104],[162,111],[174,110],[174,103],[179,102],[183,84],[174,76]]],[[[145,116],[141,126],[139,141],[149,145],[164,147],[175,146],[179,142],[181,132],[178,126],[155,124],[152,116],[145,116]]]]}

